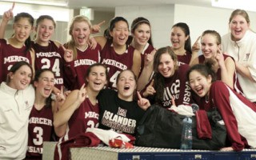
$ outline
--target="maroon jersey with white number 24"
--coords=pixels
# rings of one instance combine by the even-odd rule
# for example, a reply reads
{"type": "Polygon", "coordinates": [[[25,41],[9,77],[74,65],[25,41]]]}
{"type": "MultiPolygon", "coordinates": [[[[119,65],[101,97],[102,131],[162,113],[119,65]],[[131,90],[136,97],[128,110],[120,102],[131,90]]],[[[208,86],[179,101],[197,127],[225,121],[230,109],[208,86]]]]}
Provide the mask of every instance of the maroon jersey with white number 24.
{"type": "Polygon", "coordinates": [[[60,90],[63,86],[63,70],[64,70],[64,50],[58,47],[53,41],[49,42],[48,46],[40,46],[37,43],[32,43],[34,49],[34,69],[50,69],[54,72],[54,84],[60,90]]]}

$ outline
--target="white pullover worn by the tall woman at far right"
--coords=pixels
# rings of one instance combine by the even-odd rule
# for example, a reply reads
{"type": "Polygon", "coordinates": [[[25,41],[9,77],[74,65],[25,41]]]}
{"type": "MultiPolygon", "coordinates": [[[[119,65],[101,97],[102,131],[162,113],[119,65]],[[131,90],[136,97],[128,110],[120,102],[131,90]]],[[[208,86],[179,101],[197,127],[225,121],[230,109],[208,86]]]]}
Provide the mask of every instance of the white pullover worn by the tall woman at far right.
{"type": "MultiPolygon", "coordinates": [[[[238,42],[230,38],[230,33],[222,37],[222,50],[232,56],[235,61],[248,67],[254,81],[256,81],[256,34],[247,30],[244,37],[238,42]]],[[[256,82],[243,77],[238,73],[238,80],[243,93],[251,102],[256,102],[256,82]]]]}

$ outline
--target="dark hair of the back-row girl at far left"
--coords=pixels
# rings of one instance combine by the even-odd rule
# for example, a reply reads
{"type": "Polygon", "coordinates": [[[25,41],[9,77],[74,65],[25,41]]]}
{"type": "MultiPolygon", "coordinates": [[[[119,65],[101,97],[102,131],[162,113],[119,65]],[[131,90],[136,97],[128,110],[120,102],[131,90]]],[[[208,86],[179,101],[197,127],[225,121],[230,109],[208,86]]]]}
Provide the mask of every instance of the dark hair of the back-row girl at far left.
{"type": "MultiPolygon", "coordinates": [[[[30,25],[31,26],[34,25],[34,18],[32,17],[32,15],[30,15],[26,12],[22,12],[22,13],[17,14],[14,17],[14,23],[18,22],[21,18],[27,18],[28,22],[30,22],[30,25]]],[[[28,52],[31,49],[31,38],[30,38],[30,36],[28,38],[26,38],[25,46],[26,46],[26,52],[28,52]]]]}

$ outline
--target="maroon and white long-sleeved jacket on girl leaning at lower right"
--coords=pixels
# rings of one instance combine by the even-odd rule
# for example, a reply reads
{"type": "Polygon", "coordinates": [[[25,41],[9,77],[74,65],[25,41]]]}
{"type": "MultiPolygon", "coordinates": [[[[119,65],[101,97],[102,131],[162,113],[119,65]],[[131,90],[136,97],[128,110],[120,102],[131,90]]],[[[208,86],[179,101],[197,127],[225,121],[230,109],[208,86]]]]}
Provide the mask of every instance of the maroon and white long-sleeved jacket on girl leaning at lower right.
{"type": "MultiPolygon", "coordinates": [[[[245,146],[248,147],[248,143],[246,138],[239,134],[240,130],[238,130],[238,127],[241,127],[241,118],[249,117],[243,117],[243,115],[240,115],[240,117],[235,117],[236,113],[234,112],[234,107],[237,106],[248,107],[250,112],[256,112],[256,105],[253,102],[250,102],[248,99],[243,97],[241,94],[236,93],[234,90],[229,89],[224,82],[216,81],[210,86],[209,98],[206,99],[206,97],[204,97],[201,99],[200,109],[211,110],[213,108],[218,108],[218,111],[222,115],[223,121],[225,122],[228,138],[232,147],[234,150],[242,150],[245,146]],[[238,122],[240,122],[240,125],[238,125],[238,122]]],[[[251,124],[246,123],[243,125],[251,124]]]]}

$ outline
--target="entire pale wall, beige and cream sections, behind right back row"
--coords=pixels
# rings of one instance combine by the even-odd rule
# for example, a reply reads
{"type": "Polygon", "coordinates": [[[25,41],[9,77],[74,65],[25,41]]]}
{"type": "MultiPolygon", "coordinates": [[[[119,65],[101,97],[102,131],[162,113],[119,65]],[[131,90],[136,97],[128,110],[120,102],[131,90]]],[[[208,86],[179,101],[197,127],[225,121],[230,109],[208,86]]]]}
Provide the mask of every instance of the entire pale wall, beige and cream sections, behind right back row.
{"type": "MultiPolygon", "coordinates": [[[[115,9],[116,16],[122,16],[131,24],[134,18],[142,16],[150,20],[154,46],[170,46],[170,30],[177,22],[186,22],[190,26],[191,45],[204,30],[216,30],[226,34],[228,21],[233,10],[213,7],[160,5],[160,6],[119,6],[115,9]]],[[[256,13],[247,12],[250,26],[256,30],[256,13]]]]}

